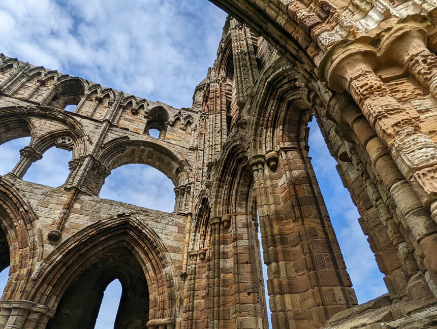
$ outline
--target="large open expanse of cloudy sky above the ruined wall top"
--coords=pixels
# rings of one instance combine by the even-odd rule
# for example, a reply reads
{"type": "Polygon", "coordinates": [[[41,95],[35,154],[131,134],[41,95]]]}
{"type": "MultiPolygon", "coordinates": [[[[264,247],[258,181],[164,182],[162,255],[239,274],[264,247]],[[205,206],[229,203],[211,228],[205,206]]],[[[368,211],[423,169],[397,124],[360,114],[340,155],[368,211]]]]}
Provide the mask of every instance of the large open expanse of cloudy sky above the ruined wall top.
{"type": "Polygon", "coordinates": [[[151,101],[190,107],[226,14],[207,1],[6,0],[1,52],[151,101]]]}

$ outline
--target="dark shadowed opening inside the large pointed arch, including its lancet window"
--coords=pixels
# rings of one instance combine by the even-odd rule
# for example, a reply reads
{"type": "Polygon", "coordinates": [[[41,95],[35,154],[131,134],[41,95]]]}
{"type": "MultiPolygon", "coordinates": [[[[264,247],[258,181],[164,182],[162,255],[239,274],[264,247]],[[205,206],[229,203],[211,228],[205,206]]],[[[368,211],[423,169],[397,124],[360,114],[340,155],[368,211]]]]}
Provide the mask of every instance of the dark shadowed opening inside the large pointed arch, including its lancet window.
{"type": "MultiPolygon", "coordinates": [[[[122,242],[116,245],[112,243],[100,253],[90,256],[82,272],[72,279],[63,293],[47,329],[121,329],[131,327],[132,323],[138,328],[146,327],[150,294],[144,270],[131,247],[122,242]],[[113,284],[110,285],[110,282],[113,284]],[[107,308],[108,302],[102,305],[105,289],[109,303],[113,299],[110,309],[107,308]],[[112,306],[117,301],[119,305],[114,312],[115,307],[112,306]],[[98,315],[102,312],[96,325],[98,315]],[[115,321],[112,321],[114,318],[115,321]],[[110,322],[109,325],[104,320],[110,322]]],[[[65,275],[68,276],[67,273],[65,275]]]]}

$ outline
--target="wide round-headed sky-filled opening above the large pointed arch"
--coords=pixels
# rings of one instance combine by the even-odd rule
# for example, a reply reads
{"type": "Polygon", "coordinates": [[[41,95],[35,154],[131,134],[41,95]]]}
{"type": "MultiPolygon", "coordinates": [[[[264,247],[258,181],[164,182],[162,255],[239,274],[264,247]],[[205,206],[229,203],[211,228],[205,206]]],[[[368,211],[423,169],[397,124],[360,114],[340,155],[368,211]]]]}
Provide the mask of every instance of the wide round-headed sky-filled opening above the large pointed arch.
{"type": "Polygon", "coordinates": [[[174,185],[159,170],[147,164],[126,164],[111,171],[105,179],[101,198],[131,203],[136,206],[172,212],[174,185]]]}

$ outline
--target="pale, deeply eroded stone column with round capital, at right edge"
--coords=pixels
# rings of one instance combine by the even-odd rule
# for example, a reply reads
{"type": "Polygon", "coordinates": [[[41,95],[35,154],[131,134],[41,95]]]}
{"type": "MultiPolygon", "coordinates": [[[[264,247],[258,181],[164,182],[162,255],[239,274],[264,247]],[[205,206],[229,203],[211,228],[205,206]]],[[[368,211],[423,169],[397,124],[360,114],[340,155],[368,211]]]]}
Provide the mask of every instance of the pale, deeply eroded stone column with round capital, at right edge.
{"type": "Polygon", "coordinates": [[[417,118],[375,75],[375,65],[372,50],[358,46],[342,49],[326,69],[329,85],[352,95],[402,175],[429,208],[437,200],[437,145],[421,133],[417,118]]]}

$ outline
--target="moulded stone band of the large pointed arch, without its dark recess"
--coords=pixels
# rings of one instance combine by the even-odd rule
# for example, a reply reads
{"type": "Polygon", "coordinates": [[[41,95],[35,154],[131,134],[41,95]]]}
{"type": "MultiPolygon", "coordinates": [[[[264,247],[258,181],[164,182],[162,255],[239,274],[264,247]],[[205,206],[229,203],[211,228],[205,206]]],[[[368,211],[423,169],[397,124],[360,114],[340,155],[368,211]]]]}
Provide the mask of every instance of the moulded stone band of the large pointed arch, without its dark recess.
{"type": "Polygon", "coordinates": [[[96,222],[61,243],[45,258],[26,299],[56,309],[69,285],[80,274],[100,264],[117,264],[122,257],[116,255],[124,252],[135,257],[147,281],[149,322],[174,321],[178,286],[169,251],[153,229],[132,215],[96,222]]]}

